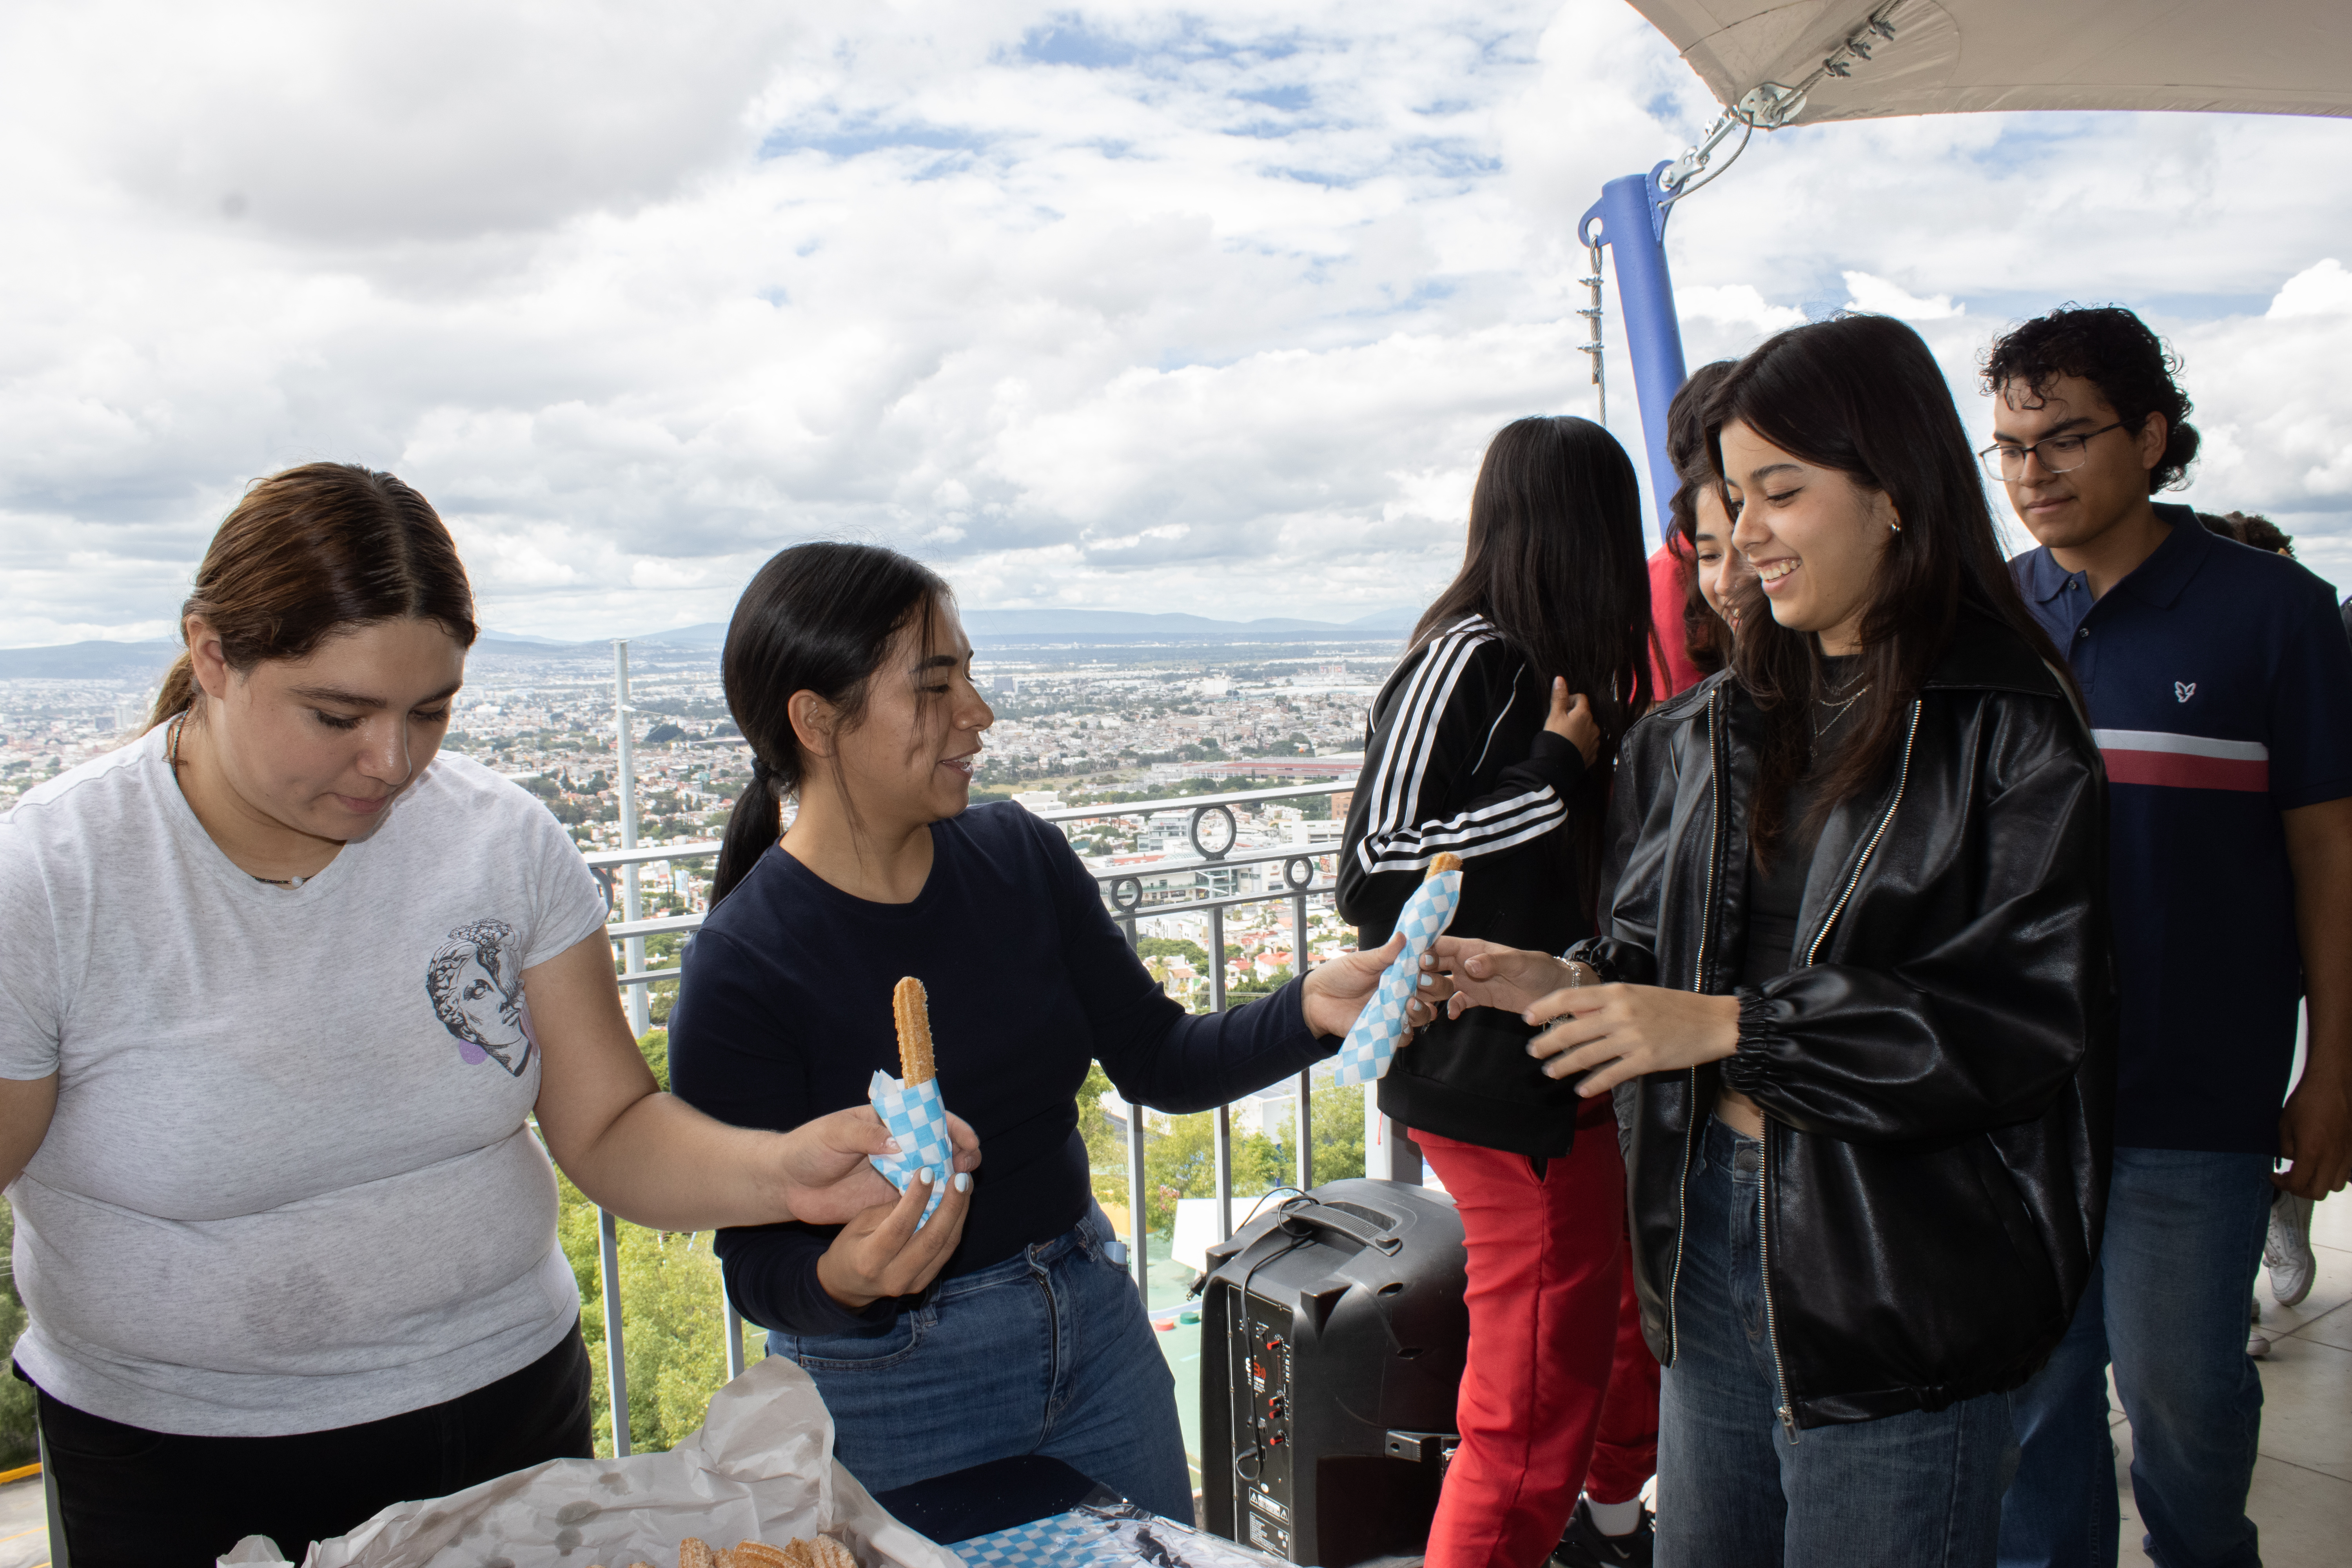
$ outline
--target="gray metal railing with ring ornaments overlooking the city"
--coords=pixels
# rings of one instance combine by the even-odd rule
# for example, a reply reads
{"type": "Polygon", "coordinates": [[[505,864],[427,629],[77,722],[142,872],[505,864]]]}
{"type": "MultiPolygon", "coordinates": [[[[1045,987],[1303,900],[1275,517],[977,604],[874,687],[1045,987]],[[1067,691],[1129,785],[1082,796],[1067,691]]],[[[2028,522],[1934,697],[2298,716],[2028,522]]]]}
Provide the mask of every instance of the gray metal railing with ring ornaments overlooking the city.
{"type": "MultiPolygon", "coordinates": [[[[621,663],[621,752],[628,757],[628,722],[626,722],[626,649],[616,651],[616,663],[621,663]]],[[[628,762],[623,762],[623,778],[628,776],[628,762]]],[[[1207,917],[1204,950],[1209,954],[1209,1011],[1223,1013],[1228,1006],[1225,987],[1225,914],[1240,905],[1263,905],[1263,903],[1287,903],[1291,917],[1291,973],[1305,973],[1310,964],[1310,900],[1329,898],[1336,891],[1336,867],[1327,870],[1338,853],[1338,842],[1322,844],[1249,844],[1240,842],[1240,818],[1232,806],[1242,804],[1268,804],[1284,799],[1310,799],[1331,797],[1352,790],[1350,783],[1308,783],[1308,785],[1279,785],[1268,790],[1228,790],[1221,795],[1190,795],[1190,797],[1167,797],[1167,799],[1143,799],[1124,804],[1101,804],[1101,806],[1061,806],[1040,811],[1037,816],[1063,825],[1068,832],[1070,823],[1094,823],[1110,818],[1143,818],[1162,813],[1183,813],[1185,842],[1192,851],[1190,856],[1171,856],[1160,860],[1134,860],[1124,863],[1122,856],[1096,858],[1089,870],[1096,875],[1096,886],[1103,893],[1103,903],[1110,917],[1117,922],[1120,931],[1127,936],[1127,945],[1136,947],[1138,924],[1164,917],[1202,914],[1207,917]],[[1214,872],[1235,872],[1244,867],[1282,865],[1279,884],[1272,889],[1258,889],[1251,893],[1216,893],[1200,884],[1207,872],[1216,882],[1214,872]],[[1192,875],[1195,886],[1192,898],[1164,898],[1162,903],[1145,903],[1145,877],[1167,879],[1192,875]]],[[[644,917],[642,891],[640,891],[640,867],[652,863],[670,863],[670,886],[682,886],[677,875],[680,863],[715,860],[717,842],[696,839],[687,844],[635,844],[635,811],[623,806],[621,816],[623,846],[621,849],[597,849],[586,851],[583,858],[590,870],[597,872],[621,872],[616,903],[621,903],[621,919],[604,929],[604,936],[614,943],[619,959],[619,985],[628,999],[630,1027],[644,1034],[649,1027],[649,992],[659,980],[675,980],[680,976],[680,964],[668,964],[663,969],[647,969],[644,938],[666,933],[691,933],[703,924],[701,912],[691,914],[656,914],[644,917]]],[[[1395,1147],[1392,1140],[1383,1138],[1388,1133],[1385,1124],[1376,1124],[1378,1112],[1371,1103],[1371,1091],[1367,1088],[1367,1173],[1374,1173],[1374,1150],[1381,1143],[1395,1147]]],[[[1308,1072],[1298,1074],[1298,1110],[1294,1119],[1294,1180],[1301,1190],[1315,1185],[1315,1088],[1308,1072]]],[[[1223,1241],[1232,1237],[1232,1107],[1216,1107],[1214,1124],[1214,1150],[1216,1150],[1216,1239],[1223,1241]]],[[[1129,1215],[1129,1272],[1136,1279],[1136,1293],[1150,1300],[1150,1265],[1145,1251],[1145,1126],[1143,1107],[1127,1107],[1127,1215],[1129,1215]]],[[[1390,1173],[1390,1171],[1381,1171],[1390,1173]]],[[[1411,1171],[1395,1171],[1397,1175],[1411,1175],[1411,1171]]],[[[619,1253],[619,1227],[609,1211],[597,1211],[597,1274],[604,1295],[604,1371],[609,1380],[607,1396],[612,1401],[612,1441],[614,1453],[628,1453],[628,1371],[626,1371],[626,1342],[621,1326],[621,1253],[619,1253]]],[[[727,1375],[736,1378],[743,1373],[743,1316],[734,1309],[731,1300],[722,1305],[727,1314],[727,1375]]]]}

